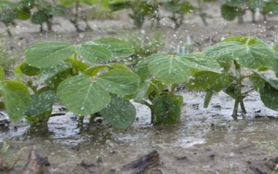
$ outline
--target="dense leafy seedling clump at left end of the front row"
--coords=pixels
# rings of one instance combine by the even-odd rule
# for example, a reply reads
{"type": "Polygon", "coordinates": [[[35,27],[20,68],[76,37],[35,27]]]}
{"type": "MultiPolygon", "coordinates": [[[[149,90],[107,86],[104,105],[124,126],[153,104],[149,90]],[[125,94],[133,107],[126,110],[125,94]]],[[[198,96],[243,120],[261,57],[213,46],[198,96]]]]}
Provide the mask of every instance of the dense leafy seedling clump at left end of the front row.
{"type": "Polygon", "coordinates": [[[47,125],[54,102],[59,102],[79,116],[99,113],[113,127],[126,129],[136,117],[127,96],[136,93],[140,77],[124,65],[99,63],[132,54],[127,42],[115,38],[32,45],[26,61],[15,68],[15,80],[6,81],[0,69],[1,105],[11,120],[25,116],[39,127],[47,125]]]}

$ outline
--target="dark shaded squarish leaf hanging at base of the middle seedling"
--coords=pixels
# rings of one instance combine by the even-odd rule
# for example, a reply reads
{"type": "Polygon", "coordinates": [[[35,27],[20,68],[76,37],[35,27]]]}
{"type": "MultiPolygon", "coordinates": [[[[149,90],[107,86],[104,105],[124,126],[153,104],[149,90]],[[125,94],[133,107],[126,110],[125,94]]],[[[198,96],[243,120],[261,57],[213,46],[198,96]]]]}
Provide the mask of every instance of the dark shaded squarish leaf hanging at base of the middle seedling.
{"type": "Polygon", "coordinates": [[[181,116],[183,97],[179,95],[158,96],[153,101],[152,114],[158,124],[175,124],[181,116]]]}

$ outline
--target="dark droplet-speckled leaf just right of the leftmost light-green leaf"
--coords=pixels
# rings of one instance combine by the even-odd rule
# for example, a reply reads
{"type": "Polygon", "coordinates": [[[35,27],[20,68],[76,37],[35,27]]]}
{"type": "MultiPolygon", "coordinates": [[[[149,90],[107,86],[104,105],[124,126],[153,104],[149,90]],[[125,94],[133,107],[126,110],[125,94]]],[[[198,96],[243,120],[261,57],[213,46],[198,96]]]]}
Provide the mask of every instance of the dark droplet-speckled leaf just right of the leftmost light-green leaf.
{"type": "Polygon", "coordinates": [[[31,104],[25,111],[26,116],[39,116],[45,113],[51,113],[55,100],[53,90],[44,90],[31,96],[31,104]]]}

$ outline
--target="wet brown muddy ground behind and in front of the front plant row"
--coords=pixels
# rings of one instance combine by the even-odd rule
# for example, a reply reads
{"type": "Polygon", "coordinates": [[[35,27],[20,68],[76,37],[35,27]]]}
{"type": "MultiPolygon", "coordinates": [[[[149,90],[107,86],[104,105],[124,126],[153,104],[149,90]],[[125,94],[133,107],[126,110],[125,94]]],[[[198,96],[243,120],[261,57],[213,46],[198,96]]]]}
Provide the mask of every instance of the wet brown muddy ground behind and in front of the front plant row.
{"type": "MultiPolygon", "coordinates": [[[[204,26],[199,17],[188,15],[185,24],[174,30],[172,23],[163,19],[160,29],[165,39],[163,50],[175,49],[186,42],[188,35],[195,43],[195,50],[229,35],[256,35],[270,45],[278,39],[278,17],[256,24],[250,22],[249,15],[244,24],[225,22],[216,5],[206,7],[211,15],[209,26],[204,26]]],[[[83,33],[74,32],[74,27],[64,19],[56,22],[60,25],[47,33],[38,33],[39,27],[28,22],[17,22],[12,29],[13,37],[3,34],[3,38],[19,60],[29,45],[42,40],[82,42],[133,31],[126,16],[113,21],[92,21],[93,31],[83,33]]],[[[148,34],[154,32],[149,22],[142,30],[148,34]]],[[[247,119],[237,122],[231,120],[233,100],[224,93],[215,95],[208,109],[202,107],[204,93],[187,90],[178,93],[184,98],[181,120],[167,127],[150,125],[150,112],[140,104],[135,104],[138,119],[124,132],[111,129],[105,122],[89,125],[88,118],[85,129],[81,130],[77,127],[78,118],[72,113],[51,118],[47,134],[28,134],[25,122],[2,127],[0,142],[8,141],[11,156],[27,147],[13,171],[7,173],[21,173],[33,145],[42,157],[49,159],[45,173],[132,173],[134,170],[122,171],[122,167],[152,150],[157,150],[159,157],[145,173],[275,173],[278,113],[266,109],[257,93],[245,99],[247,119]]]]}

